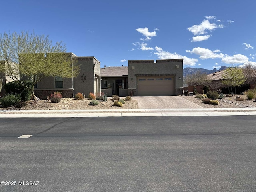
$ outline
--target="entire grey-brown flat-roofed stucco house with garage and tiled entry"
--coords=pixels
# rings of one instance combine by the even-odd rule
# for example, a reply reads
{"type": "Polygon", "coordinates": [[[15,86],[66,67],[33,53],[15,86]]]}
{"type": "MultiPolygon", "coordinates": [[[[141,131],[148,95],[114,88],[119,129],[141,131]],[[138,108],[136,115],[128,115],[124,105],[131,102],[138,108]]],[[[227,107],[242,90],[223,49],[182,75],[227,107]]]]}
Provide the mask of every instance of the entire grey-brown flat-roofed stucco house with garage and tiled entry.
{"type": "Polygon", "coordinates": [[[86,97],[104,92],[108,96],[169,96],[182,94],[183,59],[170,60],[128,60],[128,67],[100,68],[95,57],[78,57],[80,74],[73,78],[48,77],[38,82],[34,93],[46,98],[54,91],[62,92],[63,97],[74,97],[81,92],[86,97]],[[111,87],[109,87],[111,85],[111,87]]]}

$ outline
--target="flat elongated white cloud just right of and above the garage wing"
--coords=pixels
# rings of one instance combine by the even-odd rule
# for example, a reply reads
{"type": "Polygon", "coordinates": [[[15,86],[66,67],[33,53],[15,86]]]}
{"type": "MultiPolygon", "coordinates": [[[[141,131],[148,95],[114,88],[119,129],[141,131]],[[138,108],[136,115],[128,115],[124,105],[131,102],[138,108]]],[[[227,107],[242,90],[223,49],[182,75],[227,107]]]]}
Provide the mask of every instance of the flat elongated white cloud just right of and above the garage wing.
{"type": "Polygon", "coordinates": [[[224,57],[224,54],[222,53],[218,53],[220,52],[220,50],[214,50],[214,51],[211,51],[209,49],[206,49],[206,48],[201,48],[201,47],[196,47],[196,48],[193,48],[192,51],[190,50],[186,50],[186,52],[192,54],[197,54],[197,55],[200,55],[200,59],[216,59],[216,58],[223,58],[224,57]]]}

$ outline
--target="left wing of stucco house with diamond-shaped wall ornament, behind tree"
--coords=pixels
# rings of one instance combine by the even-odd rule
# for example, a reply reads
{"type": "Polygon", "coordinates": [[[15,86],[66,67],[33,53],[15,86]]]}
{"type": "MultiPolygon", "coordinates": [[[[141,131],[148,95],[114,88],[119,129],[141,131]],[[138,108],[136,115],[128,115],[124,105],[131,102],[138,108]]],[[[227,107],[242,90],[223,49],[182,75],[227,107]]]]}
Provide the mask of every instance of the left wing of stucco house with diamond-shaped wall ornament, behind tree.
{"type": "Polygon", "coordinates": [[[90,92],[100,92],[100,62],[95,57],[78,57],[69,53],[72,60],[76,59],[80,73],[73,78],[48,77],[38,82],[34,93],[39,98],[46,98],[54,91],[62,92],[62,96],[74,97],[78,92],[88,96],[90,92]]]}

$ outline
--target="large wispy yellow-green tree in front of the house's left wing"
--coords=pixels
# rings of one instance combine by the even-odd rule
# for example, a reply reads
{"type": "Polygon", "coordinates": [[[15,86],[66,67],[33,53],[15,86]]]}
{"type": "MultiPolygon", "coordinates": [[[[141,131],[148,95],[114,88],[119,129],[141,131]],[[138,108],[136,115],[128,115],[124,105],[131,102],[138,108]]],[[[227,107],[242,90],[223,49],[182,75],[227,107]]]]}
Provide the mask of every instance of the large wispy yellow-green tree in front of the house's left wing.
{"type": "Polygon", "coordinates": [[[53,45],[49,36],[34,32],[0,34],[0,61],[0,72],[27,87],[34,100],[34,85],[44,78],[72,78],[79,73],[79,66],[66,53],[63,42],[53,45]],[[23,80],[30,80],[31,86],[23,80]]]}

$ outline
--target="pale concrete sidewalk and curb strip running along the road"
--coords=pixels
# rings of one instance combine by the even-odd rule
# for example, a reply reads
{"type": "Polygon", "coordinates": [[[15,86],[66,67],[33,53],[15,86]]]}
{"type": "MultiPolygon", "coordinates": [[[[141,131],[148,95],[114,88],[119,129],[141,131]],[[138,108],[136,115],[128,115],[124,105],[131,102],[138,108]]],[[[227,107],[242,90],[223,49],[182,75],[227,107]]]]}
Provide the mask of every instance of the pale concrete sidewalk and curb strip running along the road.
{"type": "Polygon", "coordinates": [[[116,109],[116,110],[0,110],[0,118],[128,117],[128,116],[233,116],[256,115],[256,108],[116,109]]]}

